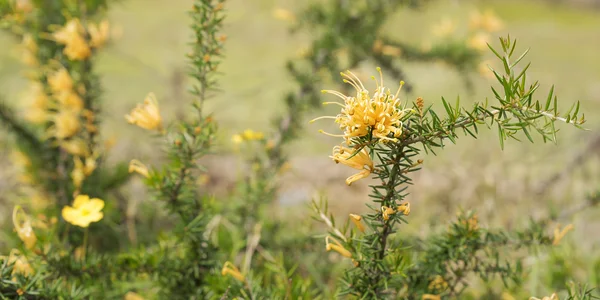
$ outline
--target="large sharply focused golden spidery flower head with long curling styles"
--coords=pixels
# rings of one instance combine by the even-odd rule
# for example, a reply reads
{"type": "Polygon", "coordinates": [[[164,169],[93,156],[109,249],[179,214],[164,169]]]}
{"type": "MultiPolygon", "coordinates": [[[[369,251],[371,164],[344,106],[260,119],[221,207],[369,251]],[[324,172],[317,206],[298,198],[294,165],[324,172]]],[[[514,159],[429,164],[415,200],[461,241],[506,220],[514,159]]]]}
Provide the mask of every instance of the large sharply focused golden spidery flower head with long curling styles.
{"type": "Polygon", "coordinates": [[[380,81],[375,82],[377,87],[372,96],[364,87],[360,79],[350,71],[341,73],[344,77],[344,82],[352,85],[356,90],[356,96],[346,96],[338,91],[324,90],[324,93],[329,93],[340,97],[344,103],[325,102],[324,104],[336,104],[342,107],[342,111],[337,116],[323,116],[311,120],[311,123],[319,119],[334,119],[339,124],[340,129],[344,131],[343,135],[333,135],[320,130],[321,133],[343,137],[347,144],[350,139],[357,137],[372,136],[381,141],[396,141],[402,134],[402,121],[405,113],[410,109],[401,107],[398,95],[402,89],[403,82],[400,83],[395,95],[391,94],[389,89],[383,85],[383,74],[381,68],[377,68],[380,81]]]}

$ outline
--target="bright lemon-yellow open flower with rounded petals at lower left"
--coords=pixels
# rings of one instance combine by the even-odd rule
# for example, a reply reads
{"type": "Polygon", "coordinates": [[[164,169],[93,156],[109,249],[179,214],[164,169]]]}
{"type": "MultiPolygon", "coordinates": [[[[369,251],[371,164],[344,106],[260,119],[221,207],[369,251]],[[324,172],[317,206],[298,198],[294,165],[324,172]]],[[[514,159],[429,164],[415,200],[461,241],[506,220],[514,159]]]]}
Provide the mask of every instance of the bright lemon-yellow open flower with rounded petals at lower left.
{"type": "Polygon", "coordinates": [[[73,201],[73,206],[65,206],[62,210],[62,216],[65,221],[79,226],[88,227],[92,222],[102,220],[104,214],[104,201],[87,195],[79,195],[73,201]]]}

